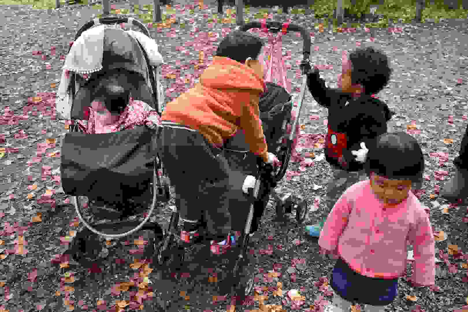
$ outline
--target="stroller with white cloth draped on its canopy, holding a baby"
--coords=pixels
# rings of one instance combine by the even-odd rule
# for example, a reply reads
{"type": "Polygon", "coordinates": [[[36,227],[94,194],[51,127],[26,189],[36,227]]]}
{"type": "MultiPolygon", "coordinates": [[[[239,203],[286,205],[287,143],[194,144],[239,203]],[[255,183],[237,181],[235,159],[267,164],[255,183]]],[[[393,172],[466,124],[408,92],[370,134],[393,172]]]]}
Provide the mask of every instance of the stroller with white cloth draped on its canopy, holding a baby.
{"type": "MultiPolygon", "coordinates": [[[[95,28],[96,29],[96,28],[95,28]]],[[[68,101],[58,103],[62,116],[72,120],[70,132],[66,134],[61,153],[61,181],[65,194],[73,195],[73,204],[86,228],[79,232],[69,248],[75,261],[95,260],[101,248],[90,243],[93,233],[106,238],[121,238],[136,231],[149,229],[161,237],[162,229],[157,223],[148,222],[156,203],[167,203],[169,186],[164,184],[164,170],[154,152],[155,131],[144,126],[105,134],[81,133],[78,120],[86,119],[86,108],[92,102],[93,88],[96,81],[105,73],[126,70],[132,73],[129,78],[132,88],[131,96],[135,100],[146,102],[155,108],[161,116],[162,90],[159,75],[154,64],[154,51],[148,55],[145,38],[151,38],[148,29],[133,18],[105,17],[94,19],[80,28],[75,36],[75,44],[84,40],[91,44],[102,44],[102,61],[96,63],[100,70],[86,72],[70,71],[62,77],[61,86],[66,89],[68,101]],[[139,27],[141,35],[127,32],[117,25],[130,23],[139,27]],[[85,32],[93,26],[100,27],[92,35],[85,32]],[[78,41],[80,36],[83,37],[78,41]],[[97,38],[96,38],[97,37],[97,38]],[[86,39],[83,39],[86,38],[86,39]],[[104,206],[96,203],[106,203],[104,206]],[[119,204],[122,210],[109,209],[110,204],[119,204]],[[91,221],[85,220],[83,208],[93,208],[91,221]],[[127,218],[149,211],[143,221],[126,220],[127,218]],[[106,222],[96,220],[103,215],[106,222]],[[110,220],[110,222],[109,222],[110,220]]],[[[76,44],[80,45],[80,44],[76,44]]],[[[67,58],[83,58],[86,44],[72,49],[70,46],[67,58]]],[[[92,53],[93,51],[90,51],[92,53]]],[[[89,60],[84,57],[85,62],[89,60]]],[[[72,59],[73,61],[73,59],[72,59]]],[[[162,58],[161,58],[162,61],[162,58]]],[[[92,60],[91,60],[92,62],[92,60]]],[[[66,60],[67,65],[67,60],[66,60]]],[[[65,68],[65,66],[64,66],[65,68]]],[[[65,70],[64,70],[64,73],[65,70]]],[[[148,253],[152,254],[151,246],[148,253]]]]}

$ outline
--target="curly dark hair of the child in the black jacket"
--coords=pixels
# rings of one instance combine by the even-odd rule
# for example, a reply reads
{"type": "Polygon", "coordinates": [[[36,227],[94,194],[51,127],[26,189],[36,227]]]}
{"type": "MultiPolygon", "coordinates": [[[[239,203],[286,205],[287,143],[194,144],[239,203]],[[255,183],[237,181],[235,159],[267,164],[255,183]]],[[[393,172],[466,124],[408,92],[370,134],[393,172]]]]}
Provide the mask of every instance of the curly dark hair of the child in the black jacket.
{"type": "Polygon", "coordinates": [[[388,66],[388,57],[372,47],[358,48],[351,52],[351,83],[361,84],[365,94],[377,94],[390,80],[393,70],[388,66]]]}

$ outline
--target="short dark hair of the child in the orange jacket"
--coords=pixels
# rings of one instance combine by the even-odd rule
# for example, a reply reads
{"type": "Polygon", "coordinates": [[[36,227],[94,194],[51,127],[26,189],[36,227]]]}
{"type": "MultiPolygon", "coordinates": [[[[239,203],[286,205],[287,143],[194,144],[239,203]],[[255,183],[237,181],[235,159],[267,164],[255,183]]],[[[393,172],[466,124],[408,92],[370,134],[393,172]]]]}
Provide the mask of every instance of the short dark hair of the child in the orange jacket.
{"type": "Polygon", "coordinates": [[[224,38],[216,50],[216,56],[233,59],[244,64],[247,58],[256,59],[263,47],[263,40],[245,31],[233,31],[224,38]]]}

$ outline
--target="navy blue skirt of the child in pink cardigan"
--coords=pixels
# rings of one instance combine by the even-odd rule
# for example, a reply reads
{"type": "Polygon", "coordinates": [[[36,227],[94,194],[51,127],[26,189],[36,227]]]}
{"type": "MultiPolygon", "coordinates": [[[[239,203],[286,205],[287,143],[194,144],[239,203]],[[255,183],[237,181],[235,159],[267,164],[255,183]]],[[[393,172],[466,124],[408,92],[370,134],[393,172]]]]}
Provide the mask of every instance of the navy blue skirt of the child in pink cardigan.
{"type": "Polygon", "coordinates": [[[331,288],[350,302],[389,305],[398,292],[398,278],[383,279],[360,275],[340,257],[333,268],[331,288]]]}

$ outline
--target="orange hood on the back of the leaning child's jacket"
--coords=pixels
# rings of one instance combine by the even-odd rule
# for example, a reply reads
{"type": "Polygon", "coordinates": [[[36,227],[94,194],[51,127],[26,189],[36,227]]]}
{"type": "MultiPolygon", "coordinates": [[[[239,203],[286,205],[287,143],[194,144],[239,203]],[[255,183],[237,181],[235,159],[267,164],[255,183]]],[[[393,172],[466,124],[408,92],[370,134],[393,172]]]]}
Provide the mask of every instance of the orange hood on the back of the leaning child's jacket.
{"type": "Polygon", "coordinates": [[[249,66],[230,58],[213,57],[212,65],[208,66],[200,76],[200,83],[212,89],[251,90],[256,93],[264,91],[263,78],[260,78],[249,66]]]}

